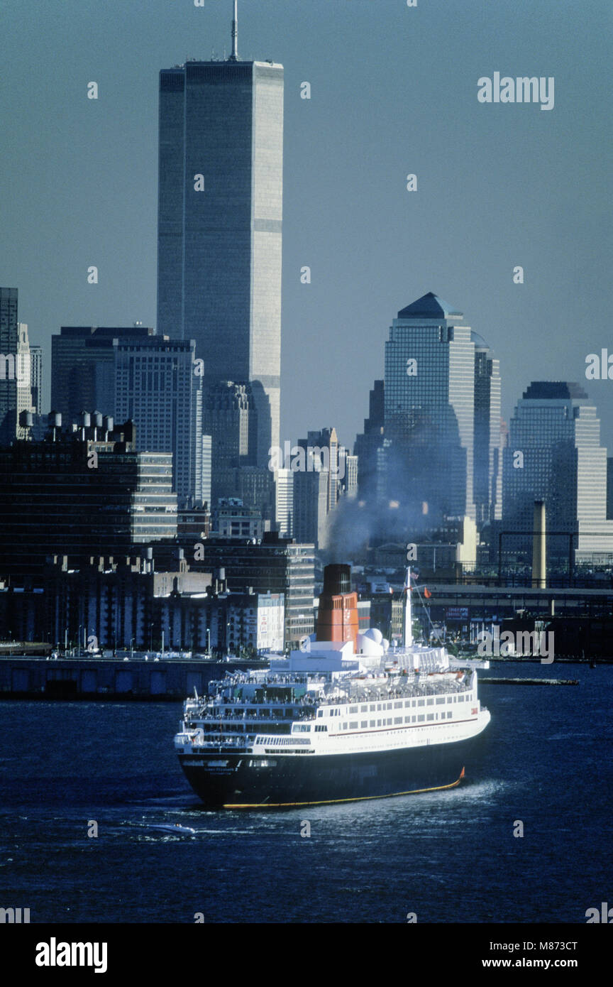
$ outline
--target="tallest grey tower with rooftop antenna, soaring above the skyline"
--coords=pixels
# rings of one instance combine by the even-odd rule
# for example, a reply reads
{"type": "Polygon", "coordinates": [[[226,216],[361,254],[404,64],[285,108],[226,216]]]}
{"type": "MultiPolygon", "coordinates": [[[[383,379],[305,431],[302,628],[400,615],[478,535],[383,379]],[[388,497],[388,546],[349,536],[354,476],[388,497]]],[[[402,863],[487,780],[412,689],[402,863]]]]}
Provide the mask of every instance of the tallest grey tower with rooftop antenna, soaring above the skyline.
{"type": "Polygon", "coordinates": [[[232,54],[160,73],[158,333],[204,387],[250,382],[257,462],[279,445],[283,66],[232,54]]]}

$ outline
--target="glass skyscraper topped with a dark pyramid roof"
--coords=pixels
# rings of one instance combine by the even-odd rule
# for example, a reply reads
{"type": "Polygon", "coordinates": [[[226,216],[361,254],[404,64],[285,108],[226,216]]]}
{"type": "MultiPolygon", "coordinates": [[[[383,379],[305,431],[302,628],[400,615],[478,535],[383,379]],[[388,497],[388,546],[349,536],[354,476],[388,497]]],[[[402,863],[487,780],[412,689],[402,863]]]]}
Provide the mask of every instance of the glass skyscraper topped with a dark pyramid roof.
{"type": "Polygon", "coordinates": [[[378,486],[412,526],[475,518],[475,344],[461,320],[430,291],[398,312],[385,343],[378,486]]]}

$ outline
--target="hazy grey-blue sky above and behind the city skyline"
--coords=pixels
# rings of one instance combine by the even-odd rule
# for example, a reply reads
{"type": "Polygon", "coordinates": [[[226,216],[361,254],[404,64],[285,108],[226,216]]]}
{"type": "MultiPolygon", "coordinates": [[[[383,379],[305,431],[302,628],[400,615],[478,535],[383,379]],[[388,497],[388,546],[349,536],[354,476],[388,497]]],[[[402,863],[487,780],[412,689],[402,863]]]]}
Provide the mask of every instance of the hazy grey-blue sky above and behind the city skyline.
{"type": "MultiPolygon", "coordinates": [[[[613,449],[613,380],[584,377],[613,353],[612,12],[239,0],[239,55],[285,65],[283,437],[352,444],[392,318],[432,290],[500,357],[506,418],[531,380],[576,380],[613,449]],[[480,104],[495,72],[553,76],[554,109],[480,104]]],[[[222,57],[231,20],[231,0],[2,0],[0,284],[44,347],[45,410],[60,325],[155,325],[158,73],[222,57]]]]}

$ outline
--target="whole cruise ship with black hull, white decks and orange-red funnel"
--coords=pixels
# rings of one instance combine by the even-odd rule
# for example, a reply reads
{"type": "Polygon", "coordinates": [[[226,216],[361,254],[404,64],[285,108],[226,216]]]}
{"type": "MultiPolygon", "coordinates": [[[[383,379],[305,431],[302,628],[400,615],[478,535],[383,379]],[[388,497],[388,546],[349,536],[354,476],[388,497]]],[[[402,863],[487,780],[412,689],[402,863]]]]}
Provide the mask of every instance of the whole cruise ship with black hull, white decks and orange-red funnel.
{"type": "Polygon", "coordinates": [[[415,795],[464,778],[490,721],[477,671],[415,645],[407,569],[404,641],[358,627],[349,566],[327,566],[317,631],[269,667],[188,699],[174,737],[205,805],[280,808],[415,795]]]}

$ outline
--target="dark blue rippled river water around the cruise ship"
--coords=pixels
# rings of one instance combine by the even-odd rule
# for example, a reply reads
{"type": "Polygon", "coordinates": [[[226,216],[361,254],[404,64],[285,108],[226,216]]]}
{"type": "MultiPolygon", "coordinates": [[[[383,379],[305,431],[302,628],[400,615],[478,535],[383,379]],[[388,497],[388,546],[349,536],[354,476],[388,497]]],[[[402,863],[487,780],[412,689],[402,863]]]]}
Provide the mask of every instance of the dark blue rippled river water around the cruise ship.
{"type": "Polygon", "coordinates": [[[584,923],[611,900],[613,666],[485,674],[580,684],[482,686],[488,743],[457,789],[281,812],[198,807],[179,705],[2,703],[0,906],[32,922],[584,923]],[[196,835],[148,828],[176,821],[196,835]]]}

